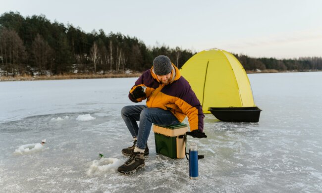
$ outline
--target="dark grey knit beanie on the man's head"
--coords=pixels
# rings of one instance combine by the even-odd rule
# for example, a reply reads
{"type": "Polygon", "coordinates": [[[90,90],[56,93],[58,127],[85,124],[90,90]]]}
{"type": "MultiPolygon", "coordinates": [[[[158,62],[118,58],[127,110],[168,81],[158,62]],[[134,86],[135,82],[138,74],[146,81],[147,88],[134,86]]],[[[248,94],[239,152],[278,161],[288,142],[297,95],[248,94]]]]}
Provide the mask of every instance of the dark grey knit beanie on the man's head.
{"type": "Polygon", "coordinates": [[[172,70],[170,58],[165,55],[159,55],[153,60],[154,73],[159,76],[167,75],[172,70]]]}

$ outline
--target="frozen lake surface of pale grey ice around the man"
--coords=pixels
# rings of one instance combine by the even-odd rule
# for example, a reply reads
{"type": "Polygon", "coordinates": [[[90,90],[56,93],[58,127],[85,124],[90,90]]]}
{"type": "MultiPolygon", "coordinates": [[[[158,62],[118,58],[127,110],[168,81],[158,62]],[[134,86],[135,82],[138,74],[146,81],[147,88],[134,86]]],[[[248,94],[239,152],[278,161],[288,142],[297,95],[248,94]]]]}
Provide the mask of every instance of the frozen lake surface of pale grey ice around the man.
{"type": "Polygon", "coordinates": [[[156,154],[153,132],[145,168],[116,171],[136,78],[0,82],[0,192],[322,192],[322,72],[248,76],[260,121],[207,114],[208,138],[188,138],[205,155],[198,180],[186,159],[156,154]]]}

